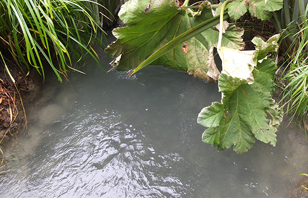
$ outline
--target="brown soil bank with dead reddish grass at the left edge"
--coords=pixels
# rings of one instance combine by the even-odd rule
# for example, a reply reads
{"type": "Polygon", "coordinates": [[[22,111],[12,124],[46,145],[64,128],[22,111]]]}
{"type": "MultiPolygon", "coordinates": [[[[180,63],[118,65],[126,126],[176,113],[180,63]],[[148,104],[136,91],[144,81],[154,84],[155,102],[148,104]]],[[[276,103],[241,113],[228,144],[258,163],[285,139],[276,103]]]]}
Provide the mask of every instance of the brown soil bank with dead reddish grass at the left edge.
{"type": "MultiPolygon", "coordinates": [[[[16,138],[18,132],[22,132],[27,128],[23,104],[32,101],[38,92],[38,86],[33,82],[33,77],[25,77],[21,68],[11,64],[9,61],[7,61],[6,64],[15,80],[15,84],[8,75],[5,66],[1,64],[0,148],[3,147],[8,140],[16,138]]],[[[2,156],[0,156],[0,158],[2,158],[2,156]]]]}

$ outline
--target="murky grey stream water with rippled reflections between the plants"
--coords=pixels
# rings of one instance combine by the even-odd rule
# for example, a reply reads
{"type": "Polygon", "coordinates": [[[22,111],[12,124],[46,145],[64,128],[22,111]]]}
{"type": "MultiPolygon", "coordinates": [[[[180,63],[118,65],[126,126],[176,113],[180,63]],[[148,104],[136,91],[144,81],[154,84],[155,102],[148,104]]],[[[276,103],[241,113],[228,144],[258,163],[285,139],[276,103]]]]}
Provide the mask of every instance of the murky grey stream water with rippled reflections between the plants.
{"type": "Polygon", "coordinates": [[[126,78],[86,65],[71,84],[52,76],[27,107],[0,197],[288,197],[307,170],[304,134],[286,122],[276,147],[238,155],[202,143],[196,118],[220,101],[217,86],[161,66],[126,78]]]}

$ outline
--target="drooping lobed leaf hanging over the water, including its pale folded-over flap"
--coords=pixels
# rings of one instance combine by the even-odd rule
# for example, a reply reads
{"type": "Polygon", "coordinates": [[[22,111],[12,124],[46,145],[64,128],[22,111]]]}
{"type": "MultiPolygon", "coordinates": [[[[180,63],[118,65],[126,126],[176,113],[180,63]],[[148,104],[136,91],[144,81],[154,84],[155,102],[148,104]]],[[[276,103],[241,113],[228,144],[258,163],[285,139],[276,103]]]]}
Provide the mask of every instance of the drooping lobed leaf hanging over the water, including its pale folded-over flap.
{"type": "Polygon", "coordinates": [[[202,135],[205,143],[220,150],[234,145],[237,153],[250,149],[255,139],[276,145],[282,121],[282,111],[272,99],[277,67],[264,54],[277,49],[278,37],[274,35],[267,42],[254,38],[253,51],[218,47],[223,64],[219,77],[222,101],[203,108],[198,115],[198,123],[209,127],[202,135]]]}

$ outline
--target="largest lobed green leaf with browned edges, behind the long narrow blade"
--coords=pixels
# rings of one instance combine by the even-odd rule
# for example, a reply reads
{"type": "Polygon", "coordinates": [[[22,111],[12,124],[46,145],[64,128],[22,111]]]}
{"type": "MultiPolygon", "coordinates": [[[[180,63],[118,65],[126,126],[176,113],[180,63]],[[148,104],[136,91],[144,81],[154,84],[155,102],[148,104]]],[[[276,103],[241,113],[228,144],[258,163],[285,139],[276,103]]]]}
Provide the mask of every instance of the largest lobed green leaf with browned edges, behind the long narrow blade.
{"type": "MultiPolygon", "coordinates": [[[[211,5],[203,2],[197,12],[181,9],[173,0],[130,0],[119,13],[127,25],[115,28],[117,41],[105,51],[120,56],[112,66],[118,70],[134,69],[160,47],[188,29],[213,18],[211,5]]],[[[222,38],[222,46],[242,49],[243,30],[229,26],[222,38]]],[[[188,39],[165,53],[152,64],[184,70],[204,80],[217,80],[219,71],[214,63],[213,49],[217,46],[219,31],[213,27],[188,39]]],[[[114,63],[114,62],[113,62],[114,63]]]]}

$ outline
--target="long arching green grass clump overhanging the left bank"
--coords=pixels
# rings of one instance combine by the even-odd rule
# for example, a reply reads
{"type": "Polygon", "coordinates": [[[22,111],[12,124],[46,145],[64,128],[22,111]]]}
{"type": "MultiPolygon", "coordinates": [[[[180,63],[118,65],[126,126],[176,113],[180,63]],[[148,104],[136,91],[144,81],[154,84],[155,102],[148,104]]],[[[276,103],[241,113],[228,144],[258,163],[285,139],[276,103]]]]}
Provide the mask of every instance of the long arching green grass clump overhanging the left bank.
{"type": "Polygon", "coordinates": [[[18,65],[34,67],[43,76],[46,60],[62,82],[67,68],[76,70],[72,54],[81,60],[89,53],[99,64],[91,46],[99,35],[93,17],[99,7],[90,0],[2,0],[0,52],[9,51],[18,65]]]}

